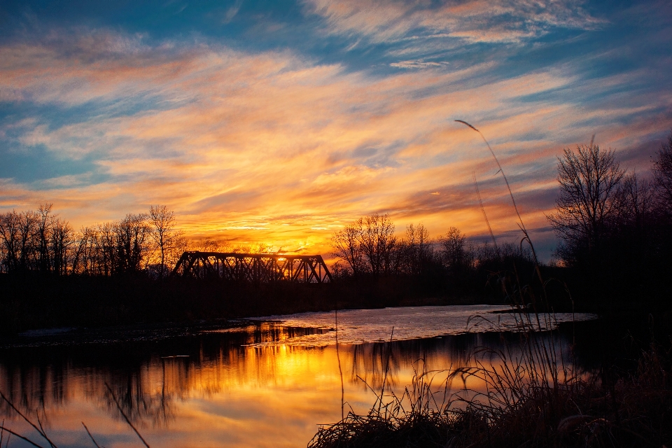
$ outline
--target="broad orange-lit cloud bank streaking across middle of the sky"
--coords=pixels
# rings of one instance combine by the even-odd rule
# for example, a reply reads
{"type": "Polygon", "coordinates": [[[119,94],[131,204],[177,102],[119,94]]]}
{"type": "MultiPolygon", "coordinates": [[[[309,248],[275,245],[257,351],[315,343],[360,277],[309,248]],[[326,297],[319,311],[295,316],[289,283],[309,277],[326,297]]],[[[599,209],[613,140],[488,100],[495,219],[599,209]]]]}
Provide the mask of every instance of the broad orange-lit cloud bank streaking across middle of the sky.
{"type": "MultiPolygon", "coordinates": [[[[16,137],[25,151],[91,160],[94,173],[38,188],[6,179],[0,200],[6,208],[54,202],[76,226],[167,204],[190,235],[286,251],[328,253],[333,230],[374,212],[390,213],[398,230],[424,221],[433,235],[451,225],[476,235],[485,228],[475,172],[494,230],[513,230],[487,149],[453,121],[463,118],[491,139],[514,193],[545,198],[520,204],[528,227],[541,227],[554,155],[601,129],[582,125],[596,113],[573,102],[524,100],[573,85],[571,70],[488,80],[493,64],[477,64],[374,76],[287,51],[72,39],[72,55],[62,43],[0,48],[0,95],[65,109],[100,104],[59,125],[36,116],[16,137]]],[[[602,113],[616,120],[631,109],[602,113]]]]}

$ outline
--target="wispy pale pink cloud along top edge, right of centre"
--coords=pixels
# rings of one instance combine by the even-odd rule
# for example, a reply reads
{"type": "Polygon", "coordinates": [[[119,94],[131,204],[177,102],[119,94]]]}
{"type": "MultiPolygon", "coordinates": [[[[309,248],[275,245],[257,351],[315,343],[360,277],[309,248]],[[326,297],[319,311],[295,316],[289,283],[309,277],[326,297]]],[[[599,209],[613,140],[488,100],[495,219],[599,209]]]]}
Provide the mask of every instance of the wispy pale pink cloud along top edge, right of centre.
{"type": "Polygon", "coordinates": [[[307,0],[335,34],[364,35],[374,42],[455,37],[470,42],[519,42],[554,28],[595,29],[602,20],[581,1],[307,0]]]}

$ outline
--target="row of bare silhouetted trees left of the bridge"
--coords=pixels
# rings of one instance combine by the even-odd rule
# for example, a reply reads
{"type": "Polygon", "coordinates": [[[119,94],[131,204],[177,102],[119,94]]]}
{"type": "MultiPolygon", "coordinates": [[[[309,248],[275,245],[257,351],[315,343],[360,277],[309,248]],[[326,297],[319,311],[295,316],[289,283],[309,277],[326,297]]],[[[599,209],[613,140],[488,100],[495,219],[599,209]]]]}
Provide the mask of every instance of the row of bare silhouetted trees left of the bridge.
{"type": "Polygon", "coordinates": [[[163,277],[188,244],[176,228],[174,212],[165,205],[79,231],[55,214],[52,204],[41,204],[37,211],[0,214],[0,272],[10,274],[148,272],[163,277]]]}

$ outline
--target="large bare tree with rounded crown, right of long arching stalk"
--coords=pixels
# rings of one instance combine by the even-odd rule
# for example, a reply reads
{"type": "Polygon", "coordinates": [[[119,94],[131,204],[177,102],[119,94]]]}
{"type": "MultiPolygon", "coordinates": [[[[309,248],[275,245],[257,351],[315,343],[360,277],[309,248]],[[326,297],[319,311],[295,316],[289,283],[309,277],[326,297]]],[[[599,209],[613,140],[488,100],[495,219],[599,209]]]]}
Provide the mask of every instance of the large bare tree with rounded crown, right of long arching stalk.
{"type": "Polygon", "coordinates": [[[608,222],[618,213],[623,176],[614,151],[601,151],[597,145],[563,150],[558,159],[556,212],[547,219],[570,251],[598,248],[608,222]]]}

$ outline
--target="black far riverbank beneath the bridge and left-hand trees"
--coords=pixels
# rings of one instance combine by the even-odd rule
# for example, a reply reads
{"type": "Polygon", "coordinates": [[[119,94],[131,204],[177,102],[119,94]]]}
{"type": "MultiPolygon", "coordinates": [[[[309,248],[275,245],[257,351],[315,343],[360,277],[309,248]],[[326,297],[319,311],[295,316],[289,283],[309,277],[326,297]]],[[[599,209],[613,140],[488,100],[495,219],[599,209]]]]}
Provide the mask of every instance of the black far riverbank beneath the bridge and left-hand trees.
{"type": "MultiPolygon", "coordinates": [[[[187,324],[304,311],[498,303],[418,290],[409,279],[331,284],[225,283],[218,279],[0,274],[0,335],[48,328],[187,324]]],[[[499,301],[500,302],[500,301],[499,301]]]]}

